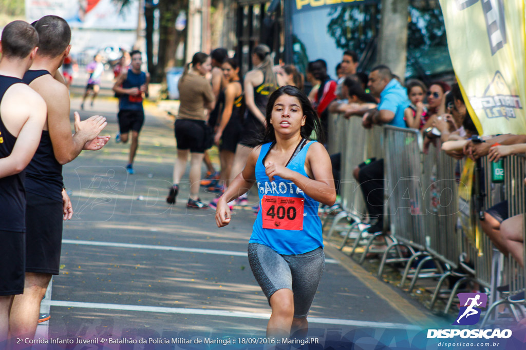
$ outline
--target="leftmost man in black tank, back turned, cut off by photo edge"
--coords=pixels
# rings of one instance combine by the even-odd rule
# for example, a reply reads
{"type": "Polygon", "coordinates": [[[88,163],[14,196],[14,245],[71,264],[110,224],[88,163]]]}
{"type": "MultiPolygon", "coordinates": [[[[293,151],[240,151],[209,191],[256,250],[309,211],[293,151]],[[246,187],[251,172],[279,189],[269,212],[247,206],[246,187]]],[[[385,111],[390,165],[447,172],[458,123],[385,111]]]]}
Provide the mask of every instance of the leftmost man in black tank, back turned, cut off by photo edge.
{"type": "Polygon", "coordinates": [[[46,120],[44,100],[22,83],[37,44],[36,30],[26,22],[5,26],[0,58],[0,348],[7,347],[13,296],[24,291],[23,170],[37,149],[46,120]]]}

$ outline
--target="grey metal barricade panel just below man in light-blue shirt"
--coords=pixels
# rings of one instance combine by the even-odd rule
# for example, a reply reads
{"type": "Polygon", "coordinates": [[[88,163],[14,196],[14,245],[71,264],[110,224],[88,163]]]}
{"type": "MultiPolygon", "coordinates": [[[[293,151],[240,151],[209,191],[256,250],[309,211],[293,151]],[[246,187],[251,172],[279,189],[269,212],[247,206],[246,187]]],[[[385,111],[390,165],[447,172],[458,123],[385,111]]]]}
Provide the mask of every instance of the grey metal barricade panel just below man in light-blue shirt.
{"type": "Polygon", "coordinates": [[[386,205],[391,236],[395,241],[384,252],[378,275],[382,274],[386,262],[406,262],[400,286],[411,277],[411,291],[419,277],[439,277],[443,272],[438,262],[436,268],[423,269],[427,261],[435,259],[427,252],[426,241],[424,195],[428,186],[423,167],[426,155],[423,153],[422,136],[415,129],[385,126],[385,142],[386,205]],[[406,246],[411,256],[404,258],[399,251],[398,258],[387,259],[391,250],[400,246],[406,246]],[[419,252],[415,253],[414,249],[419,252]],[[413,268],[413,262],[419,258],[422,259],[413,268]]]}

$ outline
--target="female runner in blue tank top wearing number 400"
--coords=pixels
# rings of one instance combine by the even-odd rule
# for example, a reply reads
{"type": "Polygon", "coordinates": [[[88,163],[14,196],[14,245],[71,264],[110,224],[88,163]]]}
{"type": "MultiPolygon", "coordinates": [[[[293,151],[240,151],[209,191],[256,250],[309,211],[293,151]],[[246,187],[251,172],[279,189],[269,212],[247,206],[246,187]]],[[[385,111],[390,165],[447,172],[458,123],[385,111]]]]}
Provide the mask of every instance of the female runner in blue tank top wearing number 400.
{"type": "Polygon", "coordinates": [[[257,184],[261,210],[248,258],[272,308],[267,336],[302,336],[324,263],[318,203],[334,204],[336,191],[323,140],[309,140],[323,132],[305,93],[292,86],[272,93],[266,121],[262,144],[217,203],[216,223],[228,225],[227,203],[257,184]]]}

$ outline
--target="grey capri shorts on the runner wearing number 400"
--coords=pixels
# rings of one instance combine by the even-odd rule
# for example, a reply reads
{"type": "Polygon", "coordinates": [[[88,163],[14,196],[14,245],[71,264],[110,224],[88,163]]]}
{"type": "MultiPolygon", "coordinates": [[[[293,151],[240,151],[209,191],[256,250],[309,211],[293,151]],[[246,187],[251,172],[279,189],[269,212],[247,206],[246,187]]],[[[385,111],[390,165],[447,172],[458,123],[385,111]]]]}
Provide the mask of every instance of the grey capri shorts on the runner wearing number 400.
{"type": "Polygon", "coordinates": [[[269,304],[276,291],[290,289],[294,293],[294,317],[307,317],[325,266],[323,248],[282,255],[259,243],[248,243],[248,261],[269,304]]]}

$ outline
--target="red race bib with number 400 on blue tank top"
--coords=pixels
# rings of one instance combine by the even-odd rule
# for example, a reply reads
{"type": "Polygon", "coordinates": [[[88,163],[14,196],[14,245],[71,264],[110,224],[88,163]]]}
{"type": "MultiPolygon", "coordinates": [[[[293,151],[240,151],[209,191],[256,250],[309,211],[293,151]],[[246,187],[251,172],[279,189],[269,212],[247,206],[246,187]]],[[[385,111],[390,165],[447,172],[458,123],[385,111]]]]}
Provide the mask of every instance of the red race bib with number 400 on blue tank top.
{"type": "Polygon", "coordinates": [[[263,228],[302,230],[304,198],[263,196],[261,217],[263,228]]]}

